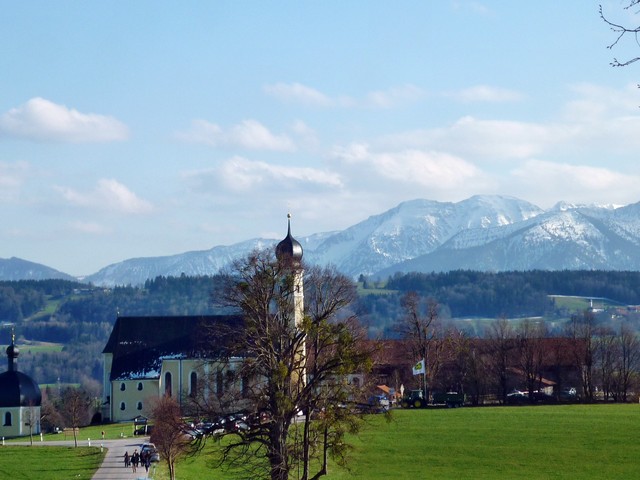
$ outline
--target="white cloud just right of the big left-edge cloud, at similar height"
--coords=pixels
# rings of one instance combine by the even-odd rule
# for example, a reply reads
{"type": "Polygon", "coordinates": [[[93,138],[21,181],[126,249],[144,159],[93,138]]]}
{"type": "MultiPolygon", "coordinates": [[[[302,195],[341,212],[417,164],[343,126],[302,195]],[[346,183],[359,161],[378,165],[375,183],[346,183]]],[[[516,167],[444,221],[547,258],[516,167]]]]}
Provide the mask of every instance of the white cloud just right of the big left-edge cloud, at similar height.
{"type": "Polygon", "coordinates": [[[256,120],[244,120],[226,131],[215,123],[194,120],[191,130],[179,133],[177,137],[184,141],[204,143],[213,147],[238,147],[278,152],[295,150],[295,144],[288,136],[275,135],[256,120]]]}

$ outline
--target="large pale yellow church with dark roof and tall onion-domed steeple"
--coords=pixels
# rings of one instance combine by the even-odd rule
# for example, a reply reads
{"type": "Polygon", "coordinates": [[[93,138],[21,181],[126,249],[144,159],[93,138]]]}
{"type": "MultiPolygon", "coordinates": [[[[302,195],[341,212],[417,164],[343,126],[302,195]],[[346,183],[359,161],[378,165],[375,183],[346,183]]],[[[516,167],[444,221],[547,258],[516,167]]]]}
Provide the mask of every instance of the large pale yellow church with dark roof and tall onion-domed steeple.
{"type": "MultiPolygon", "coordinates": [[[[297,268],[297,323],[304,309],[302,246],[291,235],[290,216],[276,256],[290,258],[297,268]]],[[[181,405],[196,392],[221,396],[230,384],[241,402],[249,379],[235,375],[242,358],[229,359],[225,353],[229,332],[242,324],[241,315],[118,317],[102,352],[103,420],[123,422],[144,416],[153,399],[165,395],[181,405]],[[216,342],[207,340],[212,336],[216,342]]]]}

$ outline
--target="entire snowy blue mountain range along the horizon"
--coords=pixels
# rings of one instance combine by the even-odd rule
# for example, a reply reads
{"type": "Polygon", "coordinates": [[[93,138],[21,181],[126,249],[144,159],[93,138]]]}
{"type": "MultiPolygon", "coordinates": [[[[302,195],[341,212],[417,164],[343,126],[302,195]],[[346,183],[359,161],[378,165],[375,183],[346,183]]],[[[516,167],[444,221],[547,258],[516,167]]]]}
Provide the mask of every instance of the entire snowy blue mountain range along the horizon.
{"type": "MultiPolygon", "coordinates": [[[[460,269],[640,270],[640,203],[558,203],[543,210],[495,195],[455,203],[418,199],[342,231],[296,238],[308,263],[333,264],[353,278],[460,269]]],[[[252,239],[204,251],[133,258],[83,280],[102,286],[140,285],[159,275],[212,275],[233,259],[279,240],[252,239]]],[[[25,260],[0,259],[0,280],[25,278],[70,276],[25,260]]]]}

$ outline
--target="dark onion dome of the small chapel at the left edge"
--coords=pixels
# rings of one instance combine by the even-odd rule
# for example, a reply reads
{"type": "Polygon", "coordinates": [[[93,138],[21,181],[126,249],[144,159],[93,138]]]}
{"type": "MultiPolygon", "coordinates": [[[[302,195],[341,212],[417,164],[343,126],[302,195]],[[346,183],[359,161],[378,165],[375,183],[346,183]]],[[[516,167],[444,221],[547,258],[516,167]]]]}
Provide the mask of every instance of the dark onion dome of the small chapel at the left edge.
{"type": "Polygon", "coordinates": [[[0,408],[6,407],[39,407],[42,393],[38,384],[29,376],[19,372],[15,359],[20,350],[13,339],[7,347],[9,370],[0,373],[0,408]]]}

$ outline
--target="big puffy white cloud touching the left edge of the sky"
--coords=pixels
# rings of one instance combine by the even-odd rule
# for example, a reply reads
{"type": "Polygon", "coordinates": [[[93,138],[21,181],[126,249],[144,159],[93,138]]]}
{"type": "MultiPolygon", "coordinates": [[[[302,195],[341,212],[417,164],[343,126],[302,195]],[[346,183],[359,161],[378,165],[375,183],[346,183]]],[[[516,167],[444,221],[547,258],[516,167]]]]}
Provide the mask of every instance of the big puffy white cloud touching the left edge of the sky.
{"type": "Polygon", "coordinates": [[[125,140],[129,131],[113,117],[81,113],[36,97],[0,116],[0,136],[52,142],[111,142],[125,140]]]}

